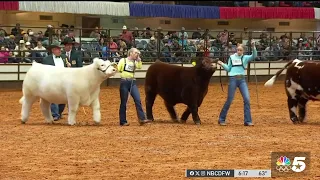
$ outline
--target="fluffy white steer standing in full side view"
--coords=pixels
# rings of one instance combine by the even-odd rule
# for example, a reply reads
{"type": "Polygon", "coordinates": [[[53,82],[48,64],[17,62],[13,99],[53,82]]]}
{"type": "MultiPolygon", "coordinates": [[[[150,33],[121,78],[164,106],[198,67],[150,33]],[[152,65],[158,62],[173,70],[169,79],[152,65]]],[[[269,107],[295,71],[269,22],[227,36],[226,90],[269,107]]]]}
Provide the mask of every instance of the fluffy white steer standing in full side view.
{"type": "Polygon", "coordinates": [[[53,122],[50,104],[68,104],[68,124],[76,123],[79,106],[91,106],[93,120],[100,123],[100,85],[117,72],[116,64],[95,58],[93,63],[81,68],[59,68],[32,63],[23,81],[21,121],[29,119],[32,104],[40,98],[45,120],[53,122]]]}

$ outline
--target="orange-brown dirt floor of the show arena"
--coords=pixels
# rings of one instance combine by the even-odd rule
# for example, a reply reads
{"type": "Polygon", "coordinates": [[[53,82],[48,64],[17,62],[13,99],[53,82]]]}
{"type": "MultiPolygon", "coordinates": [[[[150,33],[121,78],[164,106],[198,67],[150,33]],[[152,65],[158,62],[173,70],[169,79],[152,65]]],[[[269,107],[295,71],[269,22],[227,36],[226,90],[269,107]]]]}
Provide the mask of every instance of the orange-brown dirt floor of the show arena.
{"type": "MultiPolygon", "coordinates": [[[[282,84],[273,88],[258,85],[260,108],[255,84],[249,89],[254,127],[243,126],[239,90],[228,125],[217,124],[227,95],[219,84],[210,86],[200,107],[200,126],[193,124],[191,116],[187,124],[172,123],[158,97],[154,123],[139,126],[130,99],[127,114],[131,125],[120,127],[117,87],[102,89],[100,126],[93,125],[89,108],[85,108],[87,115],[78,112],[76,126],[67,125],[67,115],[46,125],[38,103],[23,125],[18,104],[21,92],[2,91],[0,179],[186,179],[186,169],[270,169],[272,151],[311,153],[309,176],[275,179],[320,179],[319,102],[308,103],[306,124],[293,125],[282,84]]],[[[142,87],[140,92],[144,100],[142,87]]],[[[184,108],[176,107],[179,115],[184,108]]]]}

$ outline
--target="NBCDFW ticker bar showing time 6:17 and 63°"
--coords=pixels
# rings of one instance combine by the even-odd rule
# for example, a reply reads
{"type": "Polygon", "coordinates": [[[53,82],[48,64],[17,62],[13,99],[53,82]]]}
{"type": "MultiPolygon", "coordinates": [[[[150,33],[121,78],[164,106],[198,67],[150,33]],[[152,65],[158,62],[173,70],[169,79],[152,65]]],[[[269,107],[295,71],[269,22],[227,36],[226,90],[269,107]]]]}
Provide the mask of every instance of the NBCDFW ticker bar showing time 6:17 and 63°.
{"type": "Polygon", "coordinates": [[[186,177],[271,177],[271,170],[186,170],[186,177]]]}

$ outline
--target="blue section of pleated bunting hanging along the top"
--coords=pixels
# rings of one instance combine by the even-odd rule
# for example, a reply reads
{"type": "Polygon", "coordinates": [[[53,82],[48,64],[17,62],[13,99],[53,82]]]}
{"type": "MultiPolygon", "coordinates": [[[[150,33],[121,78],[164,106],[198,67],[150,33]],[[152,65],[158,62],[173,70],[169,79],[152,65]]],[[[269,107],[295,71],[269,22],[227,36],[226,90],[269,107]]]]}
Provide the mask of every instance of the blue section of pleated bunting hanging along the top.
{"type": "Polygon", "coordinates": [[[219,7],[130,3],[130,16],[220,19],[219,7]]]}

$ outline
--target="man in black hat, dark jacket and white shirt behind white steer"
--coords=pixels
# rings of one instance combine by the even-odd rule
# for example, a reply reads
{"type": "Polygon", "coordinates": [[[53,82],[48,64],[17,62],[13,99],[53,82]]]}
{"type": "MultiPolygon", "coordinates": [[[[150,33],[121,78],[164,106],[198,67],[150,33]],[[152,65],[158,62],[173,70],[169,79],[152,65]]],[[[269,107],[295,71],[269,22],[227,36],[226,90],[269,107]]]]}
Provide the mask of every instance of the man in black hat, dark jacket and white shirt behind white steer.
{"type": "MultiPolygon", "coordinates": [[[[52,52],[52,54],[45,57],[42,60],[42,64],[57,66],[60,68],[71,66],[71,64],[68,62],[67,57],[64,54],[61,54],[61,48],[59,46],[51,45],[48,49],[52,52]]],[[[65,104],[51,104],[51,113],[54,121],[58,121],[59,119],[61,119],[61,115],[65,106],[65,104]]]]}

